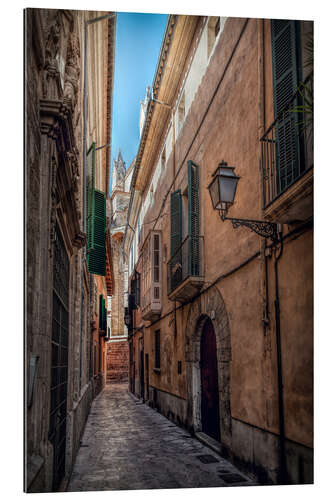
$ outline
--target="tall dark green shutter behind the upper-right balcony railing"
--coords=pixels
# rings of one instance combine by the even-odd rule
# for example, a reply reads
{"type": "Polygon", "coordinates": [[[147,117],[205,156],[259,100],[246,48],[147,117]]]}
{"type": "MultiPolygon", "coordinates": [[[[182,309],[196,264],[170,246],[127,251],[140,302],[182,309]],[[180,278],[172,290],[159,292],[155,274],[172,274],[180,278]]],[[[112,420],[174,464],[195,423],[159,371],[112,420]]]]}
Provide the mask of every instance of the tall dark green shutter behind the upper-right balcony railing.
{"type": "Polygon", "coordinates": [[[291,102],[298,85],[296,21],[271,21],[273,93],[276,124],[277,194],[283,192],[299,175],[297,117],[283,110],[291,102]],[[282,115],[281,115],[282,113],[282,115]]]}

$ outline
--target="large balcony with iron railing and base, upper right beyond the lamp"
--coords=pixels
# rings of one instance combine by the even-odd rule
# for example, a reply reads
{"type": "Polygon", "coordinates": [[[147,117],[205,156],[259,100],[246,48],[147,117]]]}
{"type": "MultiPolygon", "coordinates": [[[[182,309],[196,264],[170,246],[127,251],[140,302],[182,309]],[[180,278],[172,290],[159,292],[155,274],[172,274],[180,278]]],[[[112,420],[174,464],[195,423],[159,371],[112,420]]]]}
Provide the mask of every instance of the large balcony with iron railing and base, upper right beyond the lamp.
{"type": "MultiPolygon", "coordinates": [[[[305,84],[312,91],[311,78],[305,84]]],[[[313,121],[299,104],[296,93],[260,139],[264,214],[288,224],[313,215],[313,121]]]]}

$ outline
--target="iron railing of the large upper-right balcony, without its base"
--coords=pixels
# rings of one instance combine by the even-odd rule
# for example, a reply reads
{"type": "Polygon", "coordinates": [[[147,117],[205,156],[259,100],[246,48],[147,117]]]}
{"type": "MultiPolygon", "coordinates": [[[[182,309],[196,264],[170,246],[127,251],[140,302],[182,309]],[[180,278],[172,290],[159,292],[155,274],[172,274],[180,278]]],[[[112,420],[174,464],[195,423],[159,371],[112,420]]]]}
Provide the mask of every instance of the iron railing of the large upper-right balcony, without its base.
{"type": "Polygon", "coordinates": [[[260,139],[263,208],[313,167],[312,82],[309,76],[301,88],[306,100],[297,91],[260,139]]]}

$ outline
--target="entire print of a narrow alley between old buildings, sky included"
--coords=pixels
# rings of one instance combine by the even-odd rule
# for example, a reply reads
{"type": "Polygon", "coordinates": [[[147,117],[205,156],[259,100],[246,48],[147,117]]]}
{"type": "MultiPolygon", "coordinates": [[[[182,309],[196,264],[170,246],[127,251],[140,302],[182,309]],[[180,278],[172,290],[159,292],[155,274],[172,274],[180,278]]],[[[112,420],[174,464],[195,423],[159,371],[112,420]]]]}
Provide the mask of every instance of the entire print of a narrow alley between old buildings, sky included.
{"type": "Polygon", "coordinates": [[[222,11],[25,10],[26,492],[314,482],[313,21],[222,11]]]}

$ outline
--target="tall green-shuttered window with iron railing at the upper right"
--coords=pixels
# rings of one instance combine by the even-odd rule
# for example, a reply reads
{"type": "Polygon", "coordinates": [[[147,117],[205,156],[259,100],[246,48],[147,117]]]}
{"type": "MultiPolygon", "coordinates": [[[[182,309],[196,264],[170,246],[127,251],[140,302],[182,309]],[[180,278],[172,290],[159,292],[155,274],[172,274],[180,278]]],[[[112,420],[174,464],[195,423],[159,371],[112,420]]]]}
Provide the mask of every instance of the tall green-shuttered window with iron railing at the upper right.
{"type": "Polygon", "coordinates": [[[295,112],[301,99],[300,23],[271,20],[271,40],[274,122],[261,138],[264,208],[313,166],[313,138],[295,112]]]}

